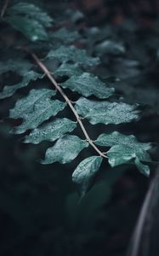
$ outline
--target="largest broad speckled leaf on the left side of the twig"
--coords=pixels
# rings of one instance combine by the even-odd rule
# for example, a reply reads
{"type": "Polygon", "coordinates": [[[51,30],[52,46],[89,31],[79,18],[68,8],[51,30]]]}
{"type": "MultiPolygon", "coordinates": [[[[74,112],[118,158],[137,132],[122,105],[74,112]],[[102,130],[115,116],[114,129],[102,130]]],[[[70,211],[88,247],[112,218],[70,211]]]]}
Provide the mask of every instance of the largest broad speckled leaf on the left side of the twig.
{"type": "Polygon", "coordinates": [[[65,102],[50,99],[54,95],[54,90],[31,90],[28,96],[16,102],[14,109],[10,110],[9,118],[22,118],[24,120],[20,126],[14,127],[13,132],[20,134],[29,129],[37,128],[43,121],[64,109],[65,102]]]}

